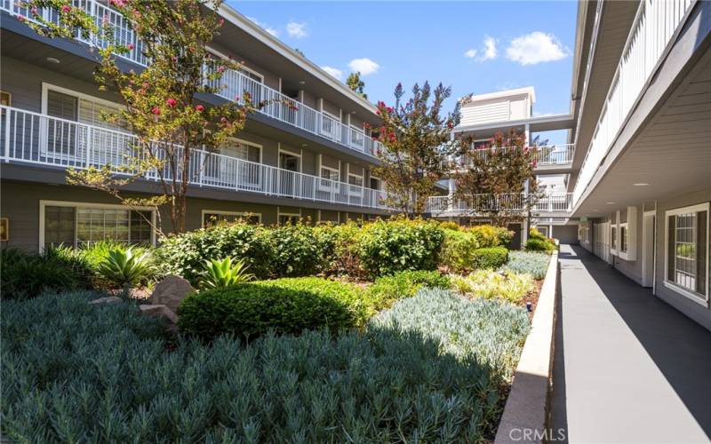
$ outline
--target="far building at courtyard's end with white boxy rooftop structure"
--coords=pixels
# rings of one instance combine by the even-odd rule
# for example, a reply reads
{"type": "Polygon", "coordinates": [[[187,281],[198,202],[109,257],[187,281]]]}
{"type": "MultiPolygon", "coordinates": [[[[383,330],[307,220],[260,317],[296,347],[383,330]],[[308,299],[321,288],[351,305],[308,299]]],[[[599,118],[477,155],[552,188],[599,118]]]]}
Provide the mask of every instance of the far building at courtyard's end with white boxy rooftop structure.
{"type": "MultiPolygon", "coordinates": [[[[516,131],[532,142],[539,132],[570,130],[571,115],[536,117],[533,115],[535,101],[536,94],[531,86],[462,98],[459,100],[461,121],[453,129],[453,137],[477,148],[488,147],[491,138],[499,131],[505,134],[516,131]]],[[[577,242],[578,222],[570,218],[571,194],[566,189],[572,170],[573,151],[572,144],[541,144],[536,153],[534,169],[539,189],[496,197],[497,202],[499,199],[507,201],[507,210],[521,213],[518,215],[520,221],[509,225],[515,232],[513,248],[526,242],[531,226],[537,226],[543,233],[561,242],[577,242]],[[529,209],[527,199],[534,192],[538,198],[529,209]]],[[[486,154],[486,150],[481,152],[481,155],[486,154]]],[[[453,160],[457,169],[471,167],[466,156],[457,156],[453,160]]],[[[481,200],[460,200],[455,197],[455,193],[455,182],[450,178],[449,194],[428,199],[429,214],[434,218],[446,218],[465,225],[491,222],[491,196],[482,195],[481,200]]]]}

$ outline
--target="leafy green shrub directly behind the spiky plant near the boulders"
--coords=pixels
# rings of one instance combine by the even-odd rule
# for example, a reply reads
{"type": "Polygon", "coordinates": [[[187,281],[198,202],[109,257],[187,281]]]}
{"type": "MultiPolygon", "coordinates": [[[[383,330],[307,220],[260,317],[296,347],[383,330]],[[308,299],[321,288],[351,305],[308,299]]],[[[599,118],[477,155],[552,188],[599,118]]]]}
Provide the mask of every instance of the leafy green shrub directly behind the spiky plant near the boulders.
{"type": "Polygon", "coordinates": [[[210,228],[171,235],[156,250],[164,274],[178,274],[198,285],[204,275],[205,258],[244,259],[250,272],[260,279],[271,275],[271,245],[264,228],[246,223],[219,224],[210,228]]]}

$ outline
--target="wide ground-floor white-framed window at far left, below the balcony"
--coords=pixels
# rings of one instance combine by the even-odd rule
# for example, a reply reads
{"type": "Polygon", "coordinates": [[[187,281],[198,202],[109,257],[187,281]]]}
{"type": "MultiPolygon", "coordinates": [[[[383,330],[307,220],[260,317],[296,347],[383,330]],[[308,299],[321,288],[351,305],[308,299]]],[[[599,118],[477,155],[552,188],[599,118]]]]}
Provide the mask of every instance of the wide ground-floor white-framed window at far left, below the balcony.
{"type": "Polygon", "coordinates": [[[40,202],[40,208],[42,248],[100,241],[153,242],[153,210],[72,202],[40,202]]]}

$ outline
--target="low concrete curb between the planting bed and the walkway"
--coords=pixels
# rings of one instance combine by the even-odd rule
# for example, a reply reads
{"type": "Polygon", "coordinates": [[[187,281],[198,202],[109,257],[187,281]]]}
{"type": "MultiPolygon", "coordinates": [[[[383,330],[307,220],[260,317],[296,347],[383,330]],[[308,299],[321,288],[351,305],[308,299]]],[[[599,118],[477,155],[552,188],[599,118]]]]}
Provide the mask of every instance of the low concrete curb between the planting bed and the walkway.
{"type": "Polygon", "coordinates": [[[555,251],[540,289],[531,333],[523,345],[495,444],[544,442],[550,439],[546,424],[548,389],[553,370],[557,280],[558,252],[555,251]]]}

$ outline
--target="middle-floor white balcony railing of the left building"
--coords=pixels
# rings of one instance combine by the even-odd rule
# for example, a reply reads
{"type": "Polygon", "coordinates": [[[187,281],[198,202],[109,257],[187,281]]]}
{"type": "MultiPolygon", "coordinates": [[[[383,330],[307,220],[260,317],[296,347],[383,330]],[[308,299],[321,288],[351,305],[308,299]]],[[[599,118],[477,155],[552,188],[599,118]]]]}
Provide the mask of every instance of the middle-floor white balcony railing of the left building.
{"type": "MultiPolygon", "coordinates": [[[[128,132],[108,130],[13,107],[0,107],[0,113],[0,147],[4,162],[76,169],[92,166],[99,168],[108,164],[120,174],[125,172],[125,168],[130,168],[130,162],[138,155],[134,151],[137,139],[128,132]]],[[[179,173],[182,168],[184,165],[173,170],[166,164],[162,171],[152,171],[146,178],[157,180],[161,175],[171,178],[172,174],[179,173]]],[[[248,162],[206,150],[195,150],[188,165],[188,177],[195,186],[388,210],[384,203],[387,193],[384,191],[248,162]]]]}

